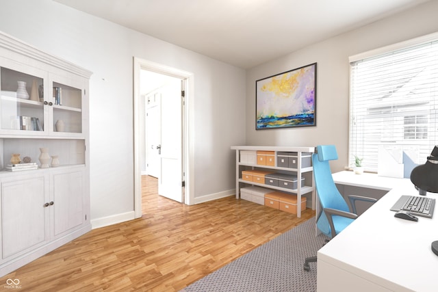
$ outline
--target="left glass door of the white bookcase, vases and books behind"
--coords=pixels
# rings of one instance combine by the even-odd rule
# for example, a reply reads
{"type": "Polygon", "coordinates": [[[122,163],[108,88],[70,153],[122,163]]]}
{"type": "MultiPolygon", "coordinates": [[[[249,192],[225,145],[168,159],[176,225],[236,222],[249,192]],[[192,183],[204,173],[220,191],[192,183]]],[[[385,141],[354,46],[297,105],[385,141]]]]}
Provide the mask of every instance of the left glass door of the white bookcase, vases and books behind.
{"type": "Polygon", "coordinates": [[[0,68],[1,131],[27,134],[44,131],[44,79],[32,73],[0,68]]]}

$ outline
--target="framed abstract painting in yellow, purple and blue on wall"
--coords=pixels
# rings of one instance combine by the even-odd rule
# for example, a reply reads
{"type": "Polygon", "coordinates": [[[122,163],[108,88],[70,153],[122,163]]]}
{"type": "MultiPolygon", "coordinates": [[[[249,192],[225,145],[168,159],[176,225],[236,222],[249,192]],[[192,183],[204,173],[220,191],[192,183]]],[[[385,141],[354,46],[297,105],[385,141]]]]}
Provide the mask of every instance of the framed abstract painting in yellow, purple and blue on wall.
{"type": "Polygon", "coordinates": [[[316,126],[317,63],[255,81],[255,129],[316,126]]]}

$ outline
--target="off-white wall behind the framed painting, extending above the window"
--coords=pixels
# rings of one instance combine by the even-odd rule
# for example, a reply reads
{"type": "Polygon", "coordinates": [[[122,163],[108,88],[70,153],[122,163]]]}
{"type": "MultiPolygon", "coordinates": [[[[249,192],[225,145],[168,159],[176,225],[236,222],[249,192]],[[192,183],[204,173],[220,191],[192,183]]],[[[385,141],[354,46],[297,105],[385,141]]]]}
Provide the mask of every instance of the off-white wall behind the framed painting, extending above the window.
{"type": "Polygon", "coordinates": [[[360,29],[313,44],[246,72],[246,142],[248,145],[315,146],[335,144],[339,160],[332,170],[348,165],[348,57],[438,31],[438,1],[360,29]],[[255,81],[318,62],[316,127],[255,130],[255,81]]]}

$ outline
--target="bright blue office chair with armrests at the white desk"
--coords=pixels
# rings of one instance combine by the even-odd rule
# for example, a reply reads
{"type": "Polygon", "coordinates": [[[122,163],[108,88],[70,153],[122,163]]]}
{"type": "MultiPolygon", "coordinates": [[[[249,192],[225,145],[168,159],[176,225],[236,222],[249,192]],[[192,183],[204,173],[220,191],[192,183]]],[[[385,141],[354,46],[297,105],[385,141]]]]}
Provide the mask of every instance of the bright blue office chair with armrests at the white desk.
{"type": "MultiPolygon", "coordinates": [[[[334,145],[317,146],[316,153],[312,155],[315,187],[322,207],[316,226],[324,235],[331,238],[335,237],[357,218],[357,200],[371,203],[377,201],[374,198],[348,195],[352,207],[350,210],[331,176],[329,161],[336,159],[337,152],[334,145]]],[[[316,256],[306,258],[304,269],[310,271],[309,263],[316,262],[316,260],[316,256]]]]}

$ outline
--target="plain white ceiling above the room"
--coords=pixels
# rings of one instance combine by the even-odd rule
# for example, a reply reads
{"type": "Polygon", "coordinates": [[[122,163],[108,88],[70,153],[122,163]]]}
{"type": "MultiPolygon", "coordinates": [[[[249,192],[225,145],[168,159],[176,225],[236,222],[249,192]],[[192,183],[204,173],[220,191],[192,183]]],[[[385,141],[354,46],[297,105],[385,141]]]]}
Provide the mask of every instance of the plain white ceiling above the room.
{"type": "Polygon", "coordinates": [[[430,0],[53,0],[252,68],[430,0]]]}

